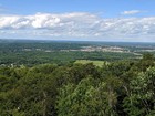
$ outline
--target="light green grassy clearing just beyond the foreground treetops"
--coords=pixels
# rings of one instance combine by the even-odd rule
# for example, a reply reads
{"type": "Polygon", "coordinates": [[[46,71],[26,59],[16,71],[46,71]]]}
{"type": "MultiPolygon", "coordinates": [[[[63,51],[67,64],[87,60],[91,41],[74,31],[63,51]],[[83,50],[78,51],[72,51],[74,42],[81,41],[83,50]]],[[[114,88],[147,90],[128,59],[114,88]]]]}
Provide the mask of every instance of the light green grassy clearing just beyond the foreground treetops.
{"type": "Polygon", "coordinates": [[[75,63],[81,63],[81,64],[87,64],[87,63],[93,63],[96,66],[103,66],[105,61],[91,61],[91,60],[76,60],[75,63]]]}

